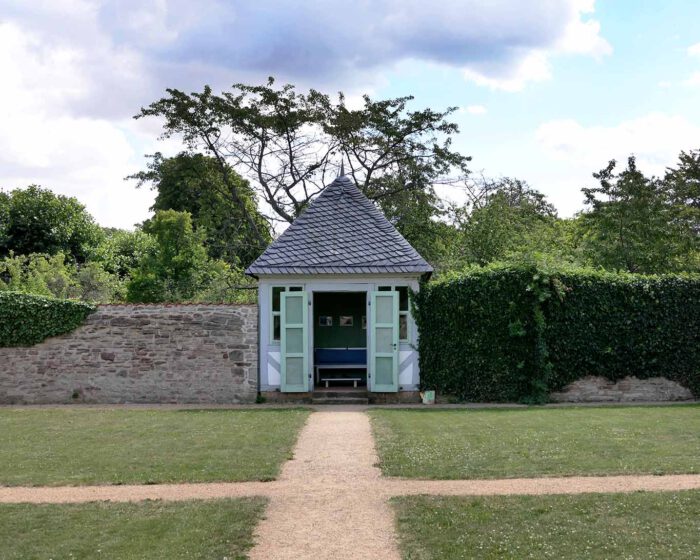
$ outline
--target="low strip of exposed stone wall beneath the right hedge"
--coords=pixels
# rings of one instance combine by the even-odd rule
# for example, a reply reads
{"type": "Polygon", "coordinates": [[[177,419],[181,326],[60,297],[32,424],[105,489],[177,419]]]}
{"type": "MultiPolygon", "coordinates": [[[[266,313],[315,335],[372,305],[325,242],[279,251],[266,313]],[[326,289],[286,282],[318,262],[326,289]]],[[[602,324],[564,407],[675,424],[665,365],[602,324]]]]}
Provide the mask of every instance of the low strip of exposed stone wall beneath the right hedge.
{"type": "Polygon", "coordinates": [[[589,375],[552,393],[551,398],[554,402],[661,402],[689,401],[693,400],[693,394],[665,377],[625,377],[615,382],[589,375]]]}

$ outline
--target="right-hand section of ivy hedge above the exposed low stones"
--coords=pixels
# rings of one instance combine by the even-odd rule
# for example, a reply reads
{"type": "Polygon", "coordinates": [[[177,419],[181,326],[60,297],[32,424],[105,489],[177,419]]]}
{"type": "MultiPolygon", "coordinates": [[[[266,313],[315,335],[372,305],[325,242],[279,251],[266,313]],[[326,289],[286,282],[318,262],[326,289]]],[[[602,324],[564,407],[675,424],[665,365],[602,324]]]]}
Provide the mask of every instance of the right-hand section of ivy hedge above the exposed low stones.
{"type": "Polygon", "coordinates": [[[552,388],[581,377],[667,377],[700,395],[700,276],[563,272],[547,305],[552,388]],[[556,291],[556,290],[555,290],[556,291]]]}

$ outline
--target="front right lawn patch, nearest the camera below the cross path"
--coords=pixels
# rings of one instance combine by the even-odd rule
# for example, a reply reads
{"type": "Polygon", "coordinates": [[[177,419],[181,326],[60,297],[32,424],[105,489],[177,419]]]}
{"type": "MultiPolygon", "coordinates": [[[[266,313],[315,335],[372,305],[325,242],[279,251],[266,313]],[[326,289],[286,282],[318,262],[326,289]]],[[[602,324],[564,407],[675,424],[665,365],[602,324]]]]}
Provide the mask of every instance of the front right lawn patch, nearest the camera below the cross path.
{"type": "Polygon", "coordinates": [[[404,560],[696,559],[700,491],[392,500],[404,560]]]}

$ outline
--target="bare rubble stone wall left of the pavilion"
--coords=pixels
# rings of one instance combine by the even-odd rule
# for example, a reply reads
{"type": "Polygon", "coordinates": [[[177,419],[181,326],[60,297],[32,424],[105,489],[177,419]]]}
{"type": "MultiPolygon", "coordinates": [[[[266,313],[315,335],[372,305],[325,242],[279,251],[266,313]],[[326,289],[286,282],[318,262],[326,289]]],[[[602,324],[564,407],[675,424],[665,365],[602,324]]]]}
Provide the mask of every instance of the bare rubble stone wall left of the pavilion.
{"type": "Polygon", "coordinates": [[[75,331],[0,348],[0,403],[238,403],[257,394],[255,305],[103,305],[75,331]]]}

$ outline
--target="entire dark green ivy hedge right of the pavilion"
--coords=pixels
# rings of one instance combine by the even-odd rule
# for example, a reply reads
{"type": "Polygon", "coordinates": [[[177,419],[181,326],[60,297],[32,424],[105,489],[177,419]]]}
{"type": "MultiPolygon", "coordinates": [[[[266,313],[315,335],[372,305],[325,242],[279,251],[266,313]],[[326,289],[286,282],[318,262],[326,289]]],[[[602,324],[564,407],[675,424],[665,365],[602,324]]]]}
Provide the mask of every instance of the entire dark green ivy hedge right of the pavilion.
{"type": "Polygon", "coordinates": [[[414,296],[421,384],[468,401],[545,401],[586,375],[664,376],[700,395],[700,276],[495,266],[414,296]]]}

